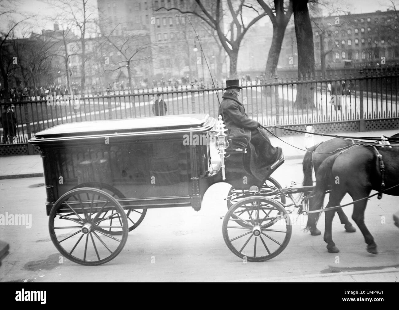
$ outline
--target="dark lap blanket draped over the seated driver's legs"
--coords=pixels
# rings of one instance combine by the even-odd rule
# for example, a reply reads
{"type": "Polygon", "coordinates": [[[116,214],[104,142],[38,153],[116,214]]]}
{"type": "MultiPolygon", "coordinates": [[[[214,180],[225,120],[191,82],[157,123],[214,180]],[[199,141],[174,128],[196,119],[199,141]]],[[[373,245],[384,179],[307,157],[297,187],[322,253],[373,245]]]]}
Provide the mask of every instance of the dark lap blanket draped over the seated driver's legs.
{"type": "Polygon", "coordinates": [[[265,129],[251,131],[251,141],[244,156],[244,167],[259,181],[265,182],[269,177],[270,166],[281,156],[282,149],[273,147],[265,129]]]}

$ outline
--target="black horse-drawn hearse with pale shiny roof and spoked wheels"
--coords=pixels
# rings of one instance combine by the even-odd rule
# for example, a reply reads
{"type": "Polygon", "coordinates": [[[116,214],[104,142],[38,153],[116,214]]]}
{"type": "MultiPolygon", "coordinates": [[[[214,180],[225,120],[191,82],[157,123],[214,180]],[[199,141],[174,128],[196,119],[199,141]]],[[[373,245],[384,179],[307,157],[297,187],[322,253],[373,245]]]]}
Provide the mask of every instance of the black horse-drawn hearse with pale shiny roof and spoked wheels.
{"type": "Polygon", "coordinates": [[[245,164],[245,149],[231,149],[219,120],[207,114],[100,120],[58,125],[35,134],[44,166],[51,240],[62,255],[100,265],[119,254],[148,209],[201,209],[209,186],[227,182],[223,237],[248,261],[281,253],[291,236],[286,197],[306,188],[264,180],[245,164]],[[194,137],[194,138],[193,138],[194,137]],[[199,137],[199,138],[198,138],[199,137]],[[245,181],[243,181],[245,180],[245,181]]]}

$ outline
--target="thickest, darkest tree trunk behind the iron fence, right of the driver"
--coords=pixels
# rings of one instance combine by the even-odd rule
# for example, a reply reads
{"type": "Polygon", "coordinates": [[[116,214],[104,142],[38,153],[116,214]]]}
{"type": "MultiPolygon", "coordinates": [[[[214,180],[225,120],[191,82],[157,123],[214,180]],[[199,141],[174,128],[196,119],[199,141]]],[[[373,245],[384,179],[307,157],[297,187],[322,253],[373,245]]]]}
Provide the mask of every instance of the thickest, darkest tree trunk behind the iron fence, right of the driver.
{"type": "MultiPolygon", "coordinates": [[[[314,76],[314,44],[308,0],[294,2],[294,25],[298,45],[298,78],[314,76]]],[[[298,84],[295,105],[306,108],[314,104],[314,85],[298,84]]]]}

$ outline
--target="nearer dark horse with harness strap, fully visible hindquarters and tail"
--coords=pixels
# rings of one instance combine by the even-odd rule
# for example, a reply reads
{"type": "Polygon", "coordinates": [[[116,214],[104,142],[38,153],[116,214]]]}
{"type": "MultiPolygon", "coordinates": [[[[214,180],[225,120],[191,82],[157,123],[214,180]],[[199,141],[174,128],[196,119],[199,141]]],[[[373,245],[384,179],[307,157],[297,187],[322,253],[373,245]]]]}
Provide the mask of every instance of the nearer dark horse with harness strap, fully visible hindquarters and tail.
{"type": "MultiPolygon", "coordinates": [[[[314,199],[309,204],[309,210],[316,210],[322,207],[328,186],[332,186],[332,191],[326,208],[339,206],[346,193],[350,194],[355,201],[369,196],[371,190],[380,191],[381,182],[385,183],[385,188],[399,184],[399,175],[397,173],[399,171],[399,147],[377,147],[377,149],[382,155],[385,165],[383,179],[378,154],[371,146],[356,145],[325,159],[316,173],[316,187],[312,192],[314,199]]],[[[399,186],[384,193],[399,196],[399,186]]],[[[354,202],[352,219],[363,233],[367,243],[367,251],[377,254],[377,245],[364,223],[366,205],[367,199],[354,202]]],[[[324,241],[327,243],[328,252],[338,253],[339,249],[332,240],[332,220],[335,210],[326,211],[325,213],[324,241]]],[[[309,214],[306,228],[310,231],[316,228],[319,214],[309,214]]]]}

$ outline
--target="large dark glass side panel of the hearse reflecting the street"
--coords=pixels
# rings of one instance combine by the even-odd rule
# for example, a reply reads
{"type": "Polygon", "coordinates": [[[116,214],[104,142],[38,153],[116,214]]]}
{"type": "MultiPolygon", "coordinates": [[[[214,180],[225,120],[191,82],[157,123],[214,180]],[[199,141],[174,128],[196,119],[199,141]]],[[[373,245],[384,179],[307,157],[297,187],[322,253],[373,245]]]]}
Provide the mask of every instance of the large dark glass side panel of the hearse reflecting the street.
{"type": "Polygon", "coordinates": [[[190,194],[190,147],[182,141],[57,148],[53,158],[58,197],[88,182],[109,184],[127,198],[190,194]]]}

